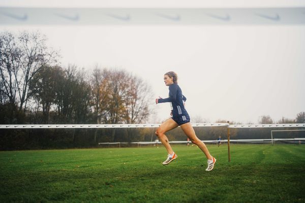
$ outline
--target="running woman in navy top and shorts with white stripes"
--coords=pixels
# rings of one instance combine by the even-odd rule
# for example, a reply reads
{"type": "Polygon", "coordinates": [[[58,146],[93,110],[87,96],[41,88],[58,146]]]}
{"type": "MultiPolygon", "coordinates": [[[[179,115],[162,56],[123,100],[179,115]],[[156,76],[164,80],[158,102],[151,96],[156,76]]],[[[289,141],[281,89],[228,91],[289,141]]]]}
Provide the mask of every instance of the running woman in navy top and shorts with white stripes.
{"type": "Polygon", "coordinates": [[[158,136],[161,143],[165,146],[168,153],[167,159],[162,164],[169,164],[171,161],[177,158],[177,155],[172,150],[164,133],[180,126],[186,136],[190,138],[192,143],[197,145],[205,154],[207,158],[207,168],[205,171],[211,171],[214,168],[216,158],[210,155],[205,144],[197,138],[195,130],[190,123],[190,116],[184,106],[184,102],[187,100],[187,98],[182,95],[182,91],[178,86],[177,81],[178,77],[176,73],[172,71],[166,73],[164,75],[164,82],[165,85],[169,88],[169,97],[164,99],[161,97],[156,98],[156,104],[169,102],[171,105],[171,118],[164,121],[156,131],[156,135],[158,136]]]}

